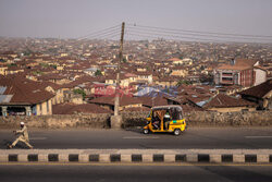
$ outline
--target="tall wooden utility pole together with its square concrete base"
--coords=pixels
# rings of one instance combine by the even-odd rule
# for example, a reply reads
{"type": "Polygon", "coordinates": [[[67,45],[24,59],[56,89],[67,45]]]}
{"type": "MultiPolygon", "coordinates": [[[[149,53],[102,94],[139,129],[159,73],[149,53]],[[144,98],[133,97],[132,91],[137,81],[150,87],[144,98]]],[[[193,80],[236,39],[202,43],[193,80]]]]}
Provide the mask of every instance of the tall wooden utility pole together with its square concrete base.
{"type": "Polygon", "coordinates": [[[120,50],[119,50],[119,62],[118,62],[118,74],[116,74],[116,86],[115,86],[115,98],[114,98],[114,116],[111,117],[111,128],[121,129],[122,118],[119,114],[120,106],[120,64],[123,61],[123,41],[124,41],[124,29],[125,23],[122,23],[121,39],[120,39],[120,50]]]}

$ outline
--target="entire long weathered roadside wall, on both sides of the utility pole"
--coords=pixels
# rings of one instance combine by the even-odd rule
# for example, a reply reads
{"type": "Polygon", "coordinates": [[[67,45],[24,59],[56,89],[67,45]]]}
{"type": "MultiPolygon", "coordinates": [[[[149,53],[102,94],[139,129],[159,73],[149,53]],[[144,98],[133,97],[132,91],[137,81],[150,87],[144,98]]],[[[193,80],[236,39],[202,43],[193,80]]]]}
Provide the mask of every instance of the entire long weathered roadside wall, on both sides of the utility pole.
{"type": "MultiPolygon", "coordinates": [[[[123,128],[144,126],[146,118],[149,114],[145,112],[123,112],[123,128]]],[[[272,126],[272,111],[254,112],[211,112],[198,111],[185,113],[189,126],[272,126]]],[[[71,114],[71,116],[32,116],[32,117],[8,117],[0,118],[0,129],[17,128],[20,122],[24,121],[29,128],[39,129],[69,129],[69,128],[110,128],[110,114],[71,114]]]]}

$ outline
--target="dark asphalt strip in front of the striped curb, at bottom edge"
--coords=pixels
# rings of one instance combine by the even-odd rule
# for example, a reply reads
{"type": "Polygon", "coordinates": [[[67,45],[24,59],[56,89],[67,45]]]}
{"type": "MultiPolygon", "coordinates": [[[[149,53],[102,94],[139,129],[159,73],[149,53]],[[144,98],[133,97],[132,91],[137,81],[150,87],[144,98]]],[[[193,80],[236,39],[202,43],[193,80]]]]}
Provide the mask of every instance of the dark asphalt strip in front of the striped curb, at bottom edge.
{"type": "Polygon", "coordinates": [[[270,182],[272,166],[0,165],[1,181],[270,182]]]}

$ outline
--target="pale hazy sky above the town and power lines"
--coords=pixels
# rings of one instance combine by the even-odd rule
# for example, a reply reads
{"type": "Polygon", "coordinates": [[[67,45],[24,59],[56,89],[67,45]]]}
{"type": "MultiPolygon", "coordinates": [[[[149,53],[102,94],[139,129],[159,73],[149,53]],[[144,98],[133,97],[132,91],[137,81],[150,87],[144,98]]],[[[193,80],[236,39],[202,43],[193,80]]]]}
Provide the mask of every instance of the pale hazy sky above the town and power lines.
{"type": "Polygon", "coordinates": [[[74,38],[123,21],[272,36],[272,0],[0,0],[0,36],[74,38]]]}

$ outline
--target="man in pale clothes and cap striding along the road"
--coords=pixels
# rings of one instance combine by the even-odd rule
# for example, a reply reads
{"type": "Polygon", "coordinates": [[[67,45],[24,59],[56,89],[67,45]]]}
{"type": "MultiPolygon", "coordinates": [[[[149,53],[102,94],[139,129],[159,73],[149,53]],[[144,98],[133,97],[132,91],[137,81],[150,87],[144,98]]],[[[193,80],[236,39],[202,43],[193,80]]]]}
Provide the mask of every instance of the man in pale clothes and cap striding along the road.
{"type": "Polygon", "coordinates": [[[21,130],[13,131],[15,134],[18,134],[18,137],[11,145],[9,145],[9,148],[14,147],[17,142],[23,142],[32,149],[33,146],[29,144],[27,128],[24,122],[21,122],[20,125],[21,130]]]}

